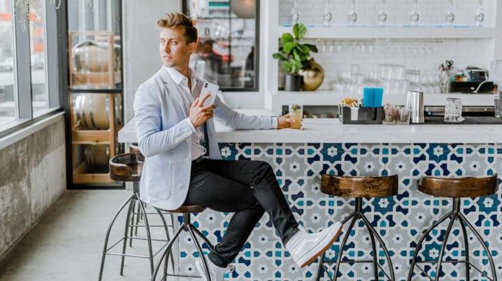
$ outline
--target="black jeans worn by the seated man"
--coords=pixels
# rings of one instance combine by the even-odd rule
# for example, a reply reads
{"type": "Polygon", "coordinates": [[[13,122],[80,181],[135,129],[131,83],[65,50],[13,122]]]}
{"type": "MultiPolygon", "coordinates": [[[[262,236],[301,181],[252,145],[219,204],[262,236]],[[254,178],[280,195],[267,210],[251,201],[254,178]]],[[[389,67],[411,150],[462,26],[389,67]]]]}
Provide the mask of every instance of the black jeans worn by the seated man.
{"type": "Polygon", "coordinates": [[[264,161],[192,161],[190,186],[183,205],[235,212],[222,240],[209,254],[209,259],[221,267],[234,260],[264,212],[270,216],[283,244],[298,231],[298,222],[273,169],[264,161]]]}

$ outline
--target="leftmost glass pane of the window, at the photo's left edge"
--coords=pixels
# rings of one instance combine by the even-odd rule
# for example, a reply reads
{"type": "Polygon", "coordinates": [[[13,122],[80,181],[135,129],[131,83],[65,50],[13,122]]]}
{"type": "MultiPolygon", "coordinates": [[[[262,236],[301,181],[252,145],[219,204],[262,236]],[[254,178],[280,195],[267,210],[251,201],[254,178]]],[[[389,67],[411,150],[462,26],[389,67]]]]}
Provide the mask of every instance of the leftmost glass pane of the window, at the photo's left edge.
{"type": "Polygon", "coordinates": [[[0,0],[0,127],[17,117],[13,30],[10,0],[0,0]]]}

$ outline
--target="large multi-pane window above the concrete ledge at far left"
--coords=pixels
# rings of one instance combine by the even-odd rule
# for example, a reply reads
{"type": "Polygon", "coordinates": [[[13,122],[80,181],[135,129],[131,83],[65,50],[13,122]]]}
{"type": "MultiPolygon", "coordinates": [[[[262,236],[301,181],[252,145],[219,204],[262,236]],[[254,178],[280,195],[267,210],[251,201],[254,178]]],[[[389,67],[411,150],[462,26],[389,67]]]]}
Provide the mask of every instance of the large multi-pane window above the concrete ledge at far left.
{"type": "MultiPolygon", "coordinates": [[[[58,36],[66,27],[58,25],[64,14],[57,6],[0,0],[0,138],[61,109],[66,69],[59,61],[66,46],[58,36]]],[[[66,10],[65,1],[61,7],[66,10]]]]}

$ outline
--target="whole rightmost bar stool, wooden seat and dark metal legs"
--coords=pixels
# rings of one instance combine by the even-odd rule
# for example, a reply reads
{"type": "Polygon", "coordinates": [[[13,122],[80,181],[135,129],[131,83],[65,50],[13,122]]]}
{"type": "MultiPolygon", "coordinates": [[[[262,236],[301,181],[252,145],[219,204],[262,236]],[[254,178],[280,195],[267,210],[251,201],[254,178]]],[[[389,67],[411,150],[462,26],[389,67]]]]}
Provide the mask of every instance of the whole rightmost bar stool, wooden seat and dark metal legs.
{"type": "Polygon", "coordinates": [[[469,274],[469,268],[472,267],[476,271],[480,272],[483,277],[488,278],[489,280],[496,281],[496,271],[495,271],[495,265],[494,265],[494,260],[492,258],[492,254],[489,252],[489,249],[487,245],[485,245],[485,242],[482,240],[480,233],[476,231],[474,226],[469,222],[469,220],[465,217],[465,215],[461,212],[460,207],[461,207],[461,199],[462,198],[467,198],[467,197],[480,197],[480,196],[489,196],[492,194],[496,193],[497,187],[498,187],[498,182],[497,182],[497,175],[492,175],[490,177],[485,177],[485,178],[472,178],[472,177],[466,177],[466,178],[434,178],[434,177],[424,177],[422,179],[422,183],[418,186],[418,190],[420,192],[423,192],[424,194],[429,194],[431,196],[435,197],[450,197],[452,198],[453,201],[453,206],[452,206],[452,211],[448,212],[446,215],[441,217],[437,222],[432,224],[429,229],[427,229],[423,234],[422,237],[418,240],[416,249],[415,249],[415,254],[413,255],[413,259],[411,260],[411,267],[410,267],[410,272],[408,273],[408,281],[411,280],[413,277],[413,271],[415,269],[415,265],[419,270],[424,273],[427,277],[429,277],[430,280],[439,280],[440,277],[440,271],[441,271],[441,266],[443,263],[454,263],[454,264],[466,264],[466,280],[471,280],[470,274],[469,274]],[[439,224],[444,222],[446,219],[450,219],[450,222],[448,223],[447,229],[445,236],[443,238],[443,245],[441,245],[441,250],[439,252],[439,258],[438,261],[417,261],[418,253],[420,248],[422,248],[422,245],[424,243],[424,240],[429,233],[435,229],[439,224]],[[464,236],[464,244],[466,247],[466,258],[464,261],[459,261],[459,260],[448,260],[448,261],[443,261],[443,256],[445,254],[445,249],[446,245],[448,242],[448,236],[450,236],[450,233],[452,231],[452,226],[455,222],[455,220],[459,220],[460,226],[462,229],[462,233],[464,236]],[[490,269],[492,271],[492,278],[489,278],[487,276],[487,273],[485,271],[480,271],[476,266],[471,264],[469,261],[469,245],[468,245],[468,240],[467,240],[467,231],[466,231],[466,225],[468,226],[471,231],[473,231],[474,235],[478,239],[478,241],[481,243],[482,247],[485,249],[485,252],[487,253],[488,261],[490,264],[490,269]],[[418,266],[417,264],[424,264],[424,263],[429,263],[429,264],[437,264],[436,265],[436,278],[431,278],[429,275],[426,274],[423,268],[418,266]]]}

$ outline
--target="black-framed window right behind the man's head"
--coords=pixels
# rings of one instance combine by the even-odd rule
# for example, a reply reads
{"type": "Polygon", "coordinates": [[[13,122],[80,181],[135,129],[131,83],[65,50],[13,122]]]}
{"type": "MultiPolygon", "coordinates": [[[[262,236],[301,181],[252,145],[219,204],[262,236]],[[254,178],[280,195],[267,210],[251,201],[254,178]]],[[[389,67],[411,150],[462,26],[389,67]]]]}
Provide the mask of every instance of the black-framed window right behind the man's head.
{"type": "Polygon", "coordinates": [[[199,47],[190,66],[227,91],[258,90],[259,0],[183,1],[199,47]]]}

